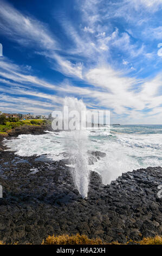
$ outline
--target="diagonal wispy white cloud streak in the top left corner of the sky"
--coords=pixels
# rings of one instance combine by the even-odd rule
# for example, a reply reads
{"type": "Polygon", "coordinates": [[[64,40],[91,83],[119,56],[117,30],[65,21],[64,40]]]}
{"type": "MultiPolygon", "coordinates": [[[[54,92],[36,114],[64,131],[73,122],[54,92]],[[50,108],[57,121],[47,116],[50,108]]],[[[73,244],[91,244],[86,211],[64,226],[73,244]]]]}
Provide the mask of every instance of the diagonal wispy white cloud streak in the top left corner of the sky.
{"type": "Polygon", "coordinates": [[[23,46],[36,43],[40,48],[57,48],[54,37],[42,22],[21,14],[3,1],[1,1],[0,21],[0,32],[23,46]]]}

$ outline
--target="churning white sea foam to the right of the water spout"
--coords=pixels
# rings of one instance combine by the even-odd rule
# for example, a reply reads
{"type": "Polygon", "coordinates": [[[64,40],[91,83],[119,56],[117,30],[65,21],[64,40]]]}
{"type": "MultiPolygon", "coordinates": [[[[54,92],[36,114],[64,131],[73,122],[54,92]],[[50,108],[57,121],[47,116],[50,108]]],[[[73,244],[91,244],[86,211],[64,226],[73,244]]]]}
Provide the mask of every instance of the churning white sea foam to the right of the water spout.
{"type": "Polygon", "coordinates": [[[162,166],[161,142],[161,134],[117,134],[99,138],[92,141],[93,148],[107,155],[90,168],[100,173],[103,183],[107,184],[133,169],[162,166]]]}

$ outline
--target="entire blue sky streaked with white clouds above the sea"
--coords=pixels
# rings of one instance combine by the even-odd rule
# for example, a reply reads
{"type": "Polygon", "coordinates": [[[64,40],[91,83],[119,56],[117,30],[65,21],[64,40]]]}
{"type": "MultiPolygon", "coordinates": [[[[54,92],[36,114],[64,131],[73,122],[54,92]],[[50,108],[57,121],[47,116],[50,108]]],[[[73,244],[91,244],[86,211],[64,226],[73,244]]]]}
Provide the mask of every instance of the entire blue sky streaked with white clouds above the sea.
{"type": "Polygon", "coordinates": [[[65,96],[111,122],[162,124],[162,0],[0,0],[0,111],[65,96]]]}

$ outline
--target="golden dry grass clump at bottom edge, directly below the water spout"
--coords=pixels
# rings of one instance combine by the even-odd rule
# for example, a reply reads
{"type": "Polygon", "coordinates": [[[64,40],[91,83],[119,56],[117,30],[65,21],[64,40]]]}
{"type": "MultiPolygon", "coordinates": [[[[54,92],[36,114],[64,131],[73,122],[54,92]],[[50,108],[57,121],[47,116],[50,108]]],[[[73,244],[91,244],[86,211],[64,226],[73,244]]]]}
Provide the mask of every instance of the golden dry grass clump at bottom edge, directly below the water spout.
{"type": "Polygon", "coordinates": [[[48,236],[42,245],[103,245],[101,239],[89,239],[86,235],[48,236]]]}

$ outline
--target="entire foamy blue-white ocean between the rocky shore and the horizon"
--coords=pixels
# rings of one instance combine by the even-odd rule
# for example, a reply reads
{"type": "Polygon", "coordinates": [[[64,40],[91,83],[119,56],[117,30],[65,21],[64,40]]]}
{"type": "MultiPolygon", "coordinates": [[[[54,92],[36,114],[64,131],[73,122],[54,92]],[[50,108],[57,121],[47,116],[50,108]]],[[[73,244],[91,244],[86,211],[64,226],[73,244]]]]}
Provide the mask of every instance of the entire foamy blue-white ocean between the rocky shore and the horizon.
{"type": "Polygon", "coordinates": [[[88,161],[83,152],[106,153],[105,157],[87,167],[102,176],[103,184],[109,184],[133,169],[162,166],[162,125],[111,125],[110,131],[105,126],[100,130],[87,131],[84,144],[82,137],[79,141],[74,140],[67,131],[46,132],[45,135],[20,135],[16,139],[6,139],[5,144],[19,156],[36,155],[40,160],[45,157],[46,161],[67,159],[67,148],[73,148],[71,153],[75,155],[76,151],[77,158],[80,153],[79,173],[82,172],[82,163],[88,161]]]}

